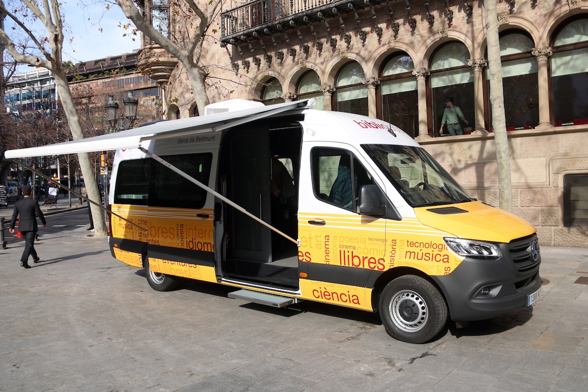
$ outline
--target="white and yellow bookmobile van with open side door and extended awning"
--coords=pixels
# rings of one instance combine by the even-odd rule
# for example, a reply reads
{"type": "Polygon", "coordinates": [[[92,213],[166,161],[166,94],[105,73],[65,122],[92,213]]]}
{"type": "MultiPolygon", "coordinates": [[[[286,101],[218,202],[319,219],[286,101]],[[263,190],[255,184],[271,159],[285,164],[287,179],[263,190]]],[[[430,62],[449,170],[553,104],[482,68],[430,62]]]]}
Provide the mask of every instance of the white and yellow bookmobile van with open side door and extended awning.
{"type": "Polygon", "coordinates": [[[189,278],[379,311],[411,343],[538,299],[532,225],[469,197],[395,126],[311,105],[226,101],[52,154],[117,149],[109,244],[155,290],[189,278]]]}

